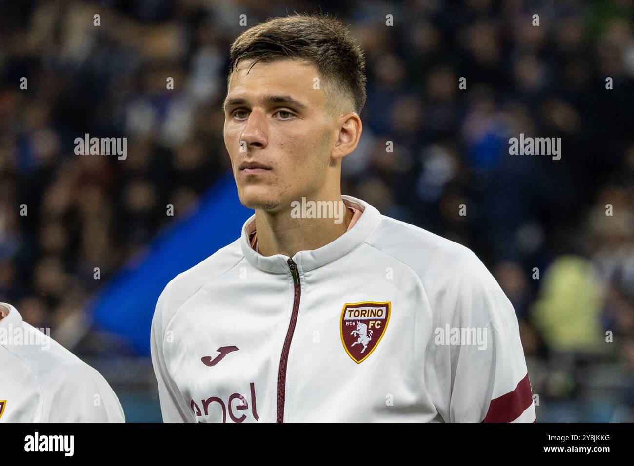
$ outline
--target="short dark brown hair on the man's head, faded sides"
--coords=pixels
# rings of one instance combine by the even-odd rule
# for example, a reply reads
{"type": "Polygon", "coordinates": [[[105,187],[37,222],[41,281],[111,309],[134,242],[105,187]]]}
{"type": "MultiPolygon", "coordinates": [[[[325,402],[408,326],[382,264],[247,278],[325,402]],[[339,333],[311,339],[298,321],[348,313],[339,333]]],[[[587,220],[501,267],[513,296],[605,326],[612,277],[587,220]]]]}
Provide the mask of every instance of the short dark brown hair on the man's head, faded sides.
{"type": "Polygon", "coordinates": [[[314,63],[321,78],[347,94],[361,113],[366,99],[365,57],[337,18],[295,13],[250,27],[231,44],[229,77],[242,60],[254,60],[253,66],[284,58],[314,63]]]}

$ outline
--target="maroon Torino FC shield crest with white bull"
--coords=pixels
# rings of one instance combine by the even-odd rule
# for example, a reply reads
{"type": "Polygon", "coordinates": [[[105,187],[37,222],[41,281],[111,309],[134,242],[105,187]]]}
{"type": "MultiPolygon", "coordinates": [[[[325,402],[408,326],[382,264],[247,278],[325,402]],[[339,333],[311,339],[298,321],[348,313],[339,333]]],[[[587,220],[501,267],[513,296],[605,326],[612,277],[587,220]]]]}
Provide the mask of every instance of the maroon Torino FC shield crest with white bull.
{"type": "Polygon", "coordinates": [[[354,362],[370,356],[385,333],[391,302],[346,303],[341,313],[341,343],[354,362]]]}

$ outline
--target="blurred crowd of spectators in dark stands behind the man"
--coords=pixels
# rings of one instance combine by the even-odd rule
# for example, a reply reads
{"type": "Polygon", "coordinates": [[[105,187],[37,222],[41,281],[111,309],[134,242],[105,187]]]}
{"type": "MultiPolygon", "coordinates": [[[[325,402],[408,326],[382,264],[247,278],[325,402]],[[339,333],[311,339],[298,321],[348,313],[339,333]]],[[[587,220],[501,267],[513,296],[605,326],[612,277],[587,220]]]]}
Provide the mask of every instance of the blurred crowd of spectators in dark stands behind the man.
{"type": "Polygon", "coordinates": [[[0,301],[30,324],[72,341],[87,299],[174,220],[165,205],[185,215],[230,170],[240,15],[321,8],[367,60],[342,192],[486,263],[517,312],[539,420],[634,420],[631,1],[0,5],[0,301]],[[75,155],[84,134],[127,137],[127,159],[75,155]],[[560,137],[561,159],[510,155],[520,134],[560,137]]]}

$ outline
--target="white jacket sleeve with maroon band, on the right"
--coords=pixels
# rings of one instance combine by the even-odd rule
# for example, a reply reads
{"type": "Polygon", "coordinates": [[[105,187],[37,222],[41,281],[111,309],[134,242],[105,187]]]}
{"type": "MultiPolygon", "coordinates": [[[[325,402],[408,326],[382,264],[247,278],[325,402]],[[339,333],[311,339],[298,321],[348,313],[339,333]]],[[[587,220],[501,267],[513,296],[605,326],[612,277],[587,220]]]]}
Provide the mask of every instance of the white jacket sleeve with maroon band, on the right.
{"type": "Polygon", "coordinates": [[[535,422],[513,306],[474,253],[457,265],[428,346],[439,413],[448,422],[535,422]]]}

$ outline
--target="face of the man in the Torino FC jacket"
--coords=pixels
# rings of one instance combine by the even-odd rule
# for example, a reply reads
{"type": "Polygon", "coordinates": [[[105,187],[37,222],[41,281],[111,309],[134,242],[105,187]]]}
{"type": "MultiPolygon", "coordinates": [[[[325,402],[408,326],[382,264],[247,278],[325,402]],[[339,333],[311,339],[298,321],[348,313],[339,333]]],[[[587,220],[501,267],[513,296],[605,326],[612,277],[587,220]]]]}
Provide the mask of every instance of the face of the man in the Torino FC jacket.
{"type": "MultiPolygon", "coordinates": [[[[224,107],[224,144],[242,204],[278,211],[327,181],[338,115],[307,61],[238,63],[224,107]]],[[[339,182],[339,180],[337,180],[339,182]]]]}

